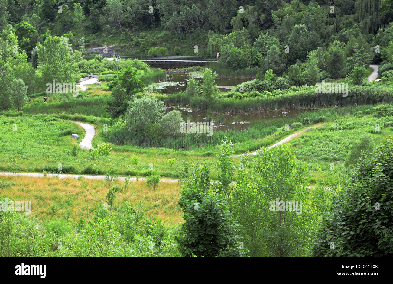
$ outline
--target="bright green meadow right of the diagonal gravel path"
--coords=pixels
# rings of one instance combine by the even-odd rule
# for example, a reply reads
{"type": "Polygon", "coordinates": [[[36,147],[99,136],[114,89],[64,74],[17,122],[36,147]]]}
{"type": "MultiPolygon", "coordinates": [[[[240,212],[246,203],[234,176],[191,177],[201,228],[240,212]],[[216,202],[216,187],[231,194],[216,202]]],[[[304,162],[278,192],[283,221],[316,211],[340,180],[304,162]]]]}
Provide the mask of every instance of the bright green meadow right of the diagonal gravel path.
{"type": "Polygon", "coordinates": [[[334,183],[345,167],[351,147],[365,134],[374,140],[375,147],[393,132],[393,117],[376,118],[370,115],[347,115],[306,132],[291,141],[296,157],[304,161],[311,174],[310,183],[334,183]],[[377,132],[376,125],[380,131],[377,132]]]}

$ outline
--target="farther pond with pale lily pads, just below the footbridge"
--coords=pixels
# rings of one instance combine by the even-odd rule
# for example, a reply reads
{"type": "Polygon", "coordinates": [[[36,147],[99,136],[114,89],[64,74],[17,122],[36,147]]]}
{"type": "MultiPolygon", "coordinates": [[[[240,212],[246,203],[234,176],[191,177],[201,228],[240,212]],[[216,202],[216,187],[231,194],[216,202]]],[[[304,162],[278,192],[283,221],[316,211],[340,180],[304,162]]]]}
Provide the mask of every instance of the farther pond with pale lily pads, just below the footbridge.
{"type": "MultiPolygon", "coordinates": [[[[160,90],[167,95],[185,91],[187,83],[190,78],[194,78],[202,84],[203,71],[194,71],[187,73],[167,73],[165,81],[156,82],[153,87],[160,90]]],[[[217,86],[236,86],[242,82],[250,81],[250,79],[233,79],[233,78],[217,78],[215,83],[217,86]]],[[[229,89],[219,88],[221,92],[226,92],[229,89]]]]}

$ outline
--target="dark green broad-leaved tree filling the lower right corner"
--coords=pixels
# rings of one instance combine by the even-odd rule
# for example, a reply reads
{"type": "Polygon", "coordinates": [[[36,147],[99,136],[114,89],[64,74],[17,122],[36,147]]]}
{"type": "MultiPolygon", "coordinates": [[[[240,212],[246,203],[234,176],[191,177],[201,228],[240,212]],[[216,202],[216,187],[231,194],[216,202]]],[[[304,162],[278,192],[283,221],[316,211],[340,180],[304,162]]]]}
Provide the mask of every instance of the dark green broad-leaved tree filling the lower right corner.
{"type": "Polygon", "coordinates": [[[391,256],[393,143],[384,143],[334,189],[330,213],[314,242],[315,256],[391,256]],[[345,210],[342,210],[345,208],[345,210]]]}

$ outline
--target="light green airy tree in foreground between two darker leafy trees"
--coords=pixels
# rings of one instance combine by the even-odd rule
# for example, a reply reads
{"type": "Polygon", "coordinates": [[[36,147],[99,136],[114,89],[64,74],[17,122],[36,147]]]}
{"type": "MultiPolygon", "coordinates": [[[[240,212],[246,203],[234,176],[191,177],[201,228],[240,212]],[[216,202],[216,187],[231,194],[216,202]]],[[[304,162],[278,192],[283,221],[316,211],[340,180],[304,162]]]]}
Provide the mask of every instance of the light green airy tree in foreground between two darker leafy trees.
{"type": "Polygon", "coordinates": [[[309,255],[307,240],[315,213],[307,210],[307,167],[299,163],[288,145],[281,144],[259,151],[253,163],[244,168],[233,192],[233,212],[250,256],[309,255]],[[277,200],[295,201],[298,206],[286,209],[284,205],[276,210],[277,200]]]}

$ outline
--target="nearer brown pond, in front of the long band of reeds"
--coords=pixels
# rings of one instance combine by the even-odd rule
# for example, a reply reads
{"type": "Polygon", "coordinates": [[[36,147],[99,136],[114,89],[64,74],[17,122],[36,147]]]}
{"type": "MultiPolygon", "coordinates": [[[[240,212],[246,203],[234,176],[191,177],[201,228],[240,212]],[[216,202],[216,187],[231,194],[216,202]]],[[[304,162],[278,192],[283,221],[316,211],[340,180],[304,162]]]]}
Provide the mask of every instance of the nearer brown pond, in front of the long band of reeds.
{"type": "MultiPolygon", "coordinates": [[[[187,121],[187,119],[190,120],[190,122],[206,122],[206,112],[192,112],[190,109],[187,108],[174,108],[174,107],[169,107],[167,108],[167,112],[170,112],[172,110],[180,110],[182,113],[182,117],[184,121],[187,121]]],[[[266,121],[274,118],[283,118],[283,117],[295,117],[296,115],[299,115],[303,112],[314,112],[317,110],[313,109],[288,109],[288,110],[271,110],[271,111],[266,111],[266,112],[258,112],[258,113],[252,113],[252,114],[222,114],[225,117],[225,124],[221,126],[214,125],[217,130],[228,132],[230,130],[237,130],[237,131],[243,131],[247,130],[250,125],[253,123],[256,123],[258,121],[266,121]],[[235,116],[240,117],[240,121],[242,123],[236,123],[232,124],[235,120],[235,116]]],[[[213,114],[213,121],[217,119],[217,114],[213,114]]]]}

